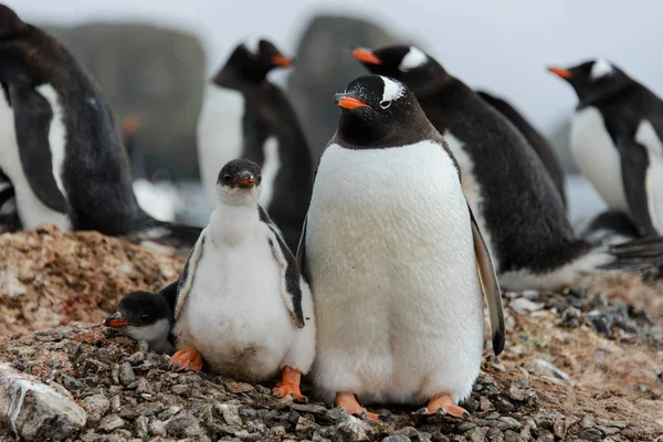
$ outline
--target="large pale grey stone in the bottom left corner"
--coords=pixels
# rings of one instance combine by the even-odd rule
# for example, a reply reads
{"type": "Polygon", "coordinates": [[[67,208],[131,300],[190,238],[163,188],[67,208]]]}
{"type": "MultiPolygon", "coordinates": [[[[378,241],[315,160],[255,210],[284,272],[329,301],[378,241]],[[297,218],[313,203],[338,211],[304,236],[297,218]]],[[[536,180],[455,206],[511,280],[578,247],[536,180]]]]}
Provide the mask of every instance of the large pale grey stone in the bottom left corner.
{"type": "Polygon", "coordinates": [[[61,440],[85,425],[86,413],[51,387],[0,364],[0,421],[23,440],[61,440]]]}

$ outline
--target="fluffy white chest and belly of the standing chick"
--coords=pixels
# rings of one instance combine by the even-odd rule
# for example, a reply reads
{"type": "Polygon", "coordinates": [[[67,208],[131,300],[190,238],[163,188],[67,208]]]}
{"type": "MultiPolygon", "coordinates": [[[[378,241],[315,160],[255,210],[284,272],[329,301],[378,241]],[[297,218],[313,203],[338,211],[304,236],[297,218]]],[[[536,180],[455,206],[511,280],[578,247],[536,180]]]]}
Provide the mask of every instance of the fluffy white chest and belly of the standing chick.
{"type": "MultiPolygon", "coordinates": [[[[285,365],[307,372],[315,356],[315,323],[308,320],[299,329],[290,317],[281,267],[267,241],[271,231],[257,220],[252,222],[252,213],[238,217],[223,213],[227,209],[242,210],[219,206],[212,213],[177,318],[177,346],[196,348],[214,371],[235,379],[263,381],[285,365]],[[227,229],[219,219],[246,221],[227,229]]],[[[302,295],[304,316],[312,319],[307,286],[302,295]]]]}

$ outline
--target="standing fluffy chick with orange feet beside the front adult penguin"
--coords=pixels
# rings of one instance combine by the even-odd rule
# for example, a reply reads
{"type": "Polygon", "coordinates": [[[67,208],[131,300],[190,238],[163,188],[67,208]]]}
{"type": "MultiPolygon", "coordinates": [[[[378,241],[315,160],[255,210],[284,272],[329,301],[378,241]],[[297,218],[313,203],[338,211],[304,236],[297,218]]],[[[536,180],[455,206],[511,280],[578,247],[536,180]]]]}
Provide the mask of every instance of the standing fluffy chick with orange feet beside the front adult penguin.
{"type": "Polygon", "coordinates": [[[175,308],[172,361],[260,382],[283,372],[274,393],[299,391],[315,357],[311,291],[257,200],[259,166],[235,159],[217,180],[217,208],[185,266],[175,308]]]}

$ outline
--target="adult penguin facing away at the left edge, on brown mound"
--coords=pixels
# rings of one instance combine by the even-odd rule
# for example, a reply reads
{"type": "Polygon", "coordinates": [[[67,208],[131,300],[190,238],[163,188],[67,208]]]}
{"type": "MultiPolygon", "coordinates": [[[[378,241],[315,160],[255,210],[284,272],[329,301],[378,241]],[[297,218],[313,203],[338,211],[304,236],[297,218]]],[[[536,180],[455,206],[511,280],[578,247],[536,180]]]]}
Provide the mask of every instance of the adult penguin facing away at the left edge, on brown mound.
{"type": "Polygon", "coordinates": [[[145,232],[194,243],[200,230],[155,220],[136,202],[125,149],[99,87],[54,38],[0,6],[0,168],[24,229],[145,232]]]}

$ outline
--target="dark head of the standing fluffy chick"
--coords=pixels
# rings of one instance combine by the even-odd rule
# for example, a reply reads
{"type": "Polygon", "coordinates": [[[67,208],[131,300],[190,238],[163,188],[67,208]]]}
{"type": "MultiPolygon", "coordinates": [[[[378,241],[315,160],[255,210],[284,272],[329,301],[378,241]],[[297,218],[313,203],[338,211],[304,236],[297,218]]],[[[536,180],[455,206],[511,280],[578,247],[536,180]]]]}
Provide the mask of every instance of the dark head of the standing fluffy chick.
{"type": "Polygon", "coordinates": [[[260,197],[262,177],[260,167],[244,158],[228,161],[217,179],[220,202],[227,204],[253,204],[260,197]]]}

